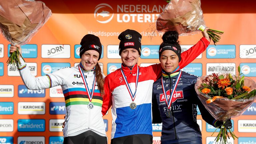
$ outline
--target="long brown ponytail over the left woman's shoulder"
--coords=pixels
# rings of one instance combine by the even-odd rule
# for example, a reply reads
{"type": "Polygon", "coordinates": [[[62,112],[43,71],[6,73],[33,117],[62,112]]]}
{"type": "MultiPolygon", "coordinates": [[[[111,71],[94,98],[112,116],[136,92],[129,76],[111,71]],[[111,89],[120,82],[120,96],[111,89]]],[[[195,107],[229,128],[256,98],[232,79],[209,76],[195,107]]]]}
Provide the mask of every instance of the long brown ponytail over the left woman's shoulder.
{"type": "Polygon", "coordinates": [[[103,95],[104,95],[104,78],[101,73],[101,68],[100,68],[99,63],[97,63],[95,66],[95,76],[96,76],[96,81],[98,84],[98,89],[100,90],[100,95],[101,95],[101,97],[103,97],[103,95]]]}

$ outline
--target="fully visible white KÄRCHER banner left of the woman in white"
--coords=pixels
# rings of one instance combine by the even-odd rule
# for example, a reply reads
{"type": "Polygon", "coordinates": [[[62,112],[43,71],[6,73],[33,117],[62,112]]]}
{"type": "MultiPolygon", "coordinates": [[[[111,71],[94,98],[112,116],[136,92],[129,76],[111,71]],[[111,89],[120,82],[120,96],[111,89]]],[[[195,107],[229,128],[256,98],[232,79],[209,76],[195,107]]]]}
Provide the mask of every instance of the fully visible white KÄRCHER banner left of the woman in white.
{"type": "Polygon", "coordinates": [[[45,114],[45,102],[18,102],[18,114],[45,114]]]}

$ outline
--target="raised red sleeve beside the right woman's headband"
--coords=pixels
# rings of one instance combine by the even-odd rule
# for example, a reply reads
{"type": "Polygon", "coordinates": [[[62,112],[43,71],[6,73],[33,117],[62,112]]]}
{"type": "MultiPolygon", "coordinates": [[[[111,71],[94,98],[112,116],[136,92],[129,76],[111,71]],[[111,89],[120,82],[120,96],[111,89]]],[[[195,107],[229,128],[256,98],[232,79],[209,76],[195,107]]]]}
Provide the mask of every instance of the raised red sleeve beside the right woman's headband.
{"type": "Polygon", "coordinates": [[[205,37],[203,37],[200,39],[200,41],[197,42],[197,44],[181,53],[181,61],[179,62],[180,69],[184,68],[194,59],[196,59],[197,56],[205,51],[209,44],[210,42],[205,37]]]}

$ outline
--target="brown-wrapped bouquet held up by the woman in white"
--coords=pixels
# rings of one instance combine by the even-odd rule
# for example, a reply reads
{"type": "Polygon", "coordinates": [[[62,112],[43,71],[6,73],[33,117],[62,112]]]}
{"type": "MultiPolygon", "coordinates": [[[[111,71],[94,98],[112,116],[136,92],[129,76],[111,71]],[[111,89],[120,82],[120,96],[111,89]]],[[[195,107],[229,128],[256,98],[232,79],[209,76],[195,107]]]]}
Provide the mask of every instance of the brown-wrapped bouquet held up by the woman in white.
{"type": "MultiPolygon", "coordinates": [[[[41,1],[0,0],[0,29],[12,44],[24,45],[36,34],[52,15],[41,1]]],[[[19,51],[10,55],[8,64],[19,62],[19,51]]]]}

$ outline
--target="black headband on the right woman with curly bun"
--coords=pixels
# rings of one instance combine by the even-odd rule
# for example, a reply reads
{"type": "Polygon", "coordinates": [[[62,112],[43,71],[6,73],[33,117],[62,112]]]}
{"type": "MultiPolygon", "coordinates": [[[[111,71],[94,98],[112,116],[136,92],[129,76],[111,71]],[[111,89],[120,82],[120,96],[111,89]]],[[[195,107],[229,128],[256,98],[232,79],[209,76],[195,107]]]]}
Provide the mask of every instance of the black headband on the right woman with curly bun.
{"type": "Polygon", "coordinates": [[[177,46],[175,46],[173,44],[160,45],[159,52],[158,52],[159,53],[159,60],[160,60],[162,52],[165,51],[165,50],[174,51],[177,54],[177,56],[179,57],[179,62],[180,62],[180,60],[181,60],[181,56],[180,56],[181,55],[181,47],[179,45],[177,45],[177,46]]]}

